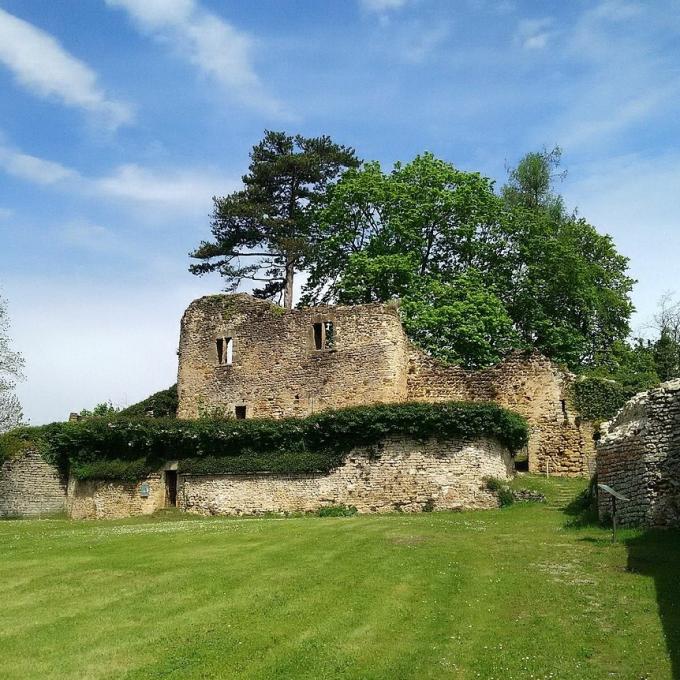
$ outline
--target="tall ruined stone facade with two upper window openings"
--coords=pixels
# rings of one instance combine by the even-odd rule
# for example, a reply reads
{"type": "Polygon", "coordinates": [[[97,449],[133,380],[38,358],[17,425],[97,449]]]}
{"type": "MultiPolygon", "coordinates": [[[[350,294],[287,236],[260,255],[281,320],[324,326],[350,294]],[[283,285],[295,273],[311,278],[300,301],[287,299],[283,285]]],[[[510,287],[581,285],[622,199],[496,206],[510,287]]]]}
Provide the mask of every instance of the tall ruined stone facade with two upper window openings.
{"type": "Polygon", "coordinates": [[[182,318],[181,418],[224,409],[246,416],[305,416],[356,404],[403,401],[406,338],[389,305],[284,311],[248,295],[194,301],[182,318]],[[315,349],[314,324],[333,323],[330,348],[315,349]],[[232,339],[232,363],[218,361],[232,339]]]}

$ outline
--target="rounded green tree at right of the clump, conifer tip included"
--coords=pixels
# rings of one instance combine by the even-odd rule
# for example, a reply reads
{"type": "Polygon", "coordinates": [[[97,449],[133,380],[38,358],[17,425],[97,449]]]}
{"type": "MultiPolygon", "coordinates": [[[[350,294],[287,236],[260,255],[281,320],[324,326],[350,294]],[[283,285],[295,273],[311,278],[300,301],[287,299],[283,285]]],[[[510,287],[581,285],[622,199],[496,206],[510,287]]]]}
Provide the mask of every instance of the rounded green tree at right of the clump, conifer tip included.
{"type": "Polygon", "coordinates": [[[635,282],[611,237],[567,214],[554,186],[560,158],[557,147],[529,153],[508,173],[513,276],[503,299],[524,342],[580,370],[628,336],[635,282]]]}

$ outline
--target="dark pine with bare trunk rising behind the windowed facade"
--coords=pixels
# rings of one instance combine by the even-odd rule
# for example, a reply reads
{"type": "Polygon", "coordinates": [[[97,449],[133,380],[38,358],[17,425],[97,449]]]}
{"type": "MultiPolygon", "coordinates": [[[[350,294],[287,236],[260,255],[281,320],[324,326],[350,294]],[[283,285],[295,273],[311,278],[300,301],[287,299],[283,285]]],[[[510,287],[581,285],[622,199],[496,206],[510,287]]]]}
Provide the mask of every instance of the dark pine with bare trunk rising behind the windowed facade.
{"type": "Polygon", "coordinates": [[[245,279],[253,293],[293,304],[296,271],[308,253],[314,207],[343,170],[359,164],[354,150],[330,137],[265,131],[253,147],[244,188],[213,199],[212,241],[190,256],[193,274],[219,272],[228,290],[245,279]]]}

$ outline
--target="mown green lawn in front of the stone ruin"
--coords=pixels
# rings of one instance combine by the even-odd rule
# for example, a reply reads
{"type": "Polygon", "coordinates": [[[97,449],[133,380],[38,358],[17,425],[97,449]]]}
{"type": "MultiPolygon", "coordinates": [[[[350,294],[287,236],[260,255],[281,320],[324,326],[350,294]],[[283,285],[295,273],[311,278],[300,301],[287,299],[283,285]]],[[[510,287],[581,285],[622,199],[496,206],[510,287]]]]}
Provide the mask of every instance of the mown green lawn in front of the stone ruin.
{"type": "Polygon", "coordinates": [[[680,678],[680,533],[524,482],[552,502],[0,522],[0,677],[680,678]]]}

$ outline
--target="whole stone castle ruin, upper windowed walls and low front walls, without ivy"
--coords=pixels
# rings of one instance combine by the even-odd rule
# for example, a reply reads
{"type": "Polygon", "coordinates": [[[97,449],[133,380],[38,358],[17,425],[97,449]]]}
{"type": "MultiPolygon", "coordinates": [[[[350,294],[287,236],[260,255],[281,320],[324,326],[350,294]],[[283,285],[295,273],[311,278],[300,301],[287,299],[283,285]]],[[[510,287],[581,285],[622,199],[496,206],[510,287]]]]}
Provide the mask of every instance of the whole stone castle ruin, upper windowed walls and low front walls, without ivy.
{"type": "MultiPolygon", "coordinates": [[[[211,295],[182,318],[177,415],[284,418],[379,403],[490,401],[527,419],[530,471],[585,475],[593,466],[592,428],[571,410],[572,380],[537,353],[513,353],[480,371],[443,364],[408,340],[396,304],[284,310],[245,294],[211,295]]],[[[63,480],[29,452],[0,469],[0,515],[488,508],[498,499],[485,479],[513,473],[507,447],[485,436],[386,435],[377,447],[355,447],[328,473],[197,475],[170,462],[136,482],[63,480]]]]}

